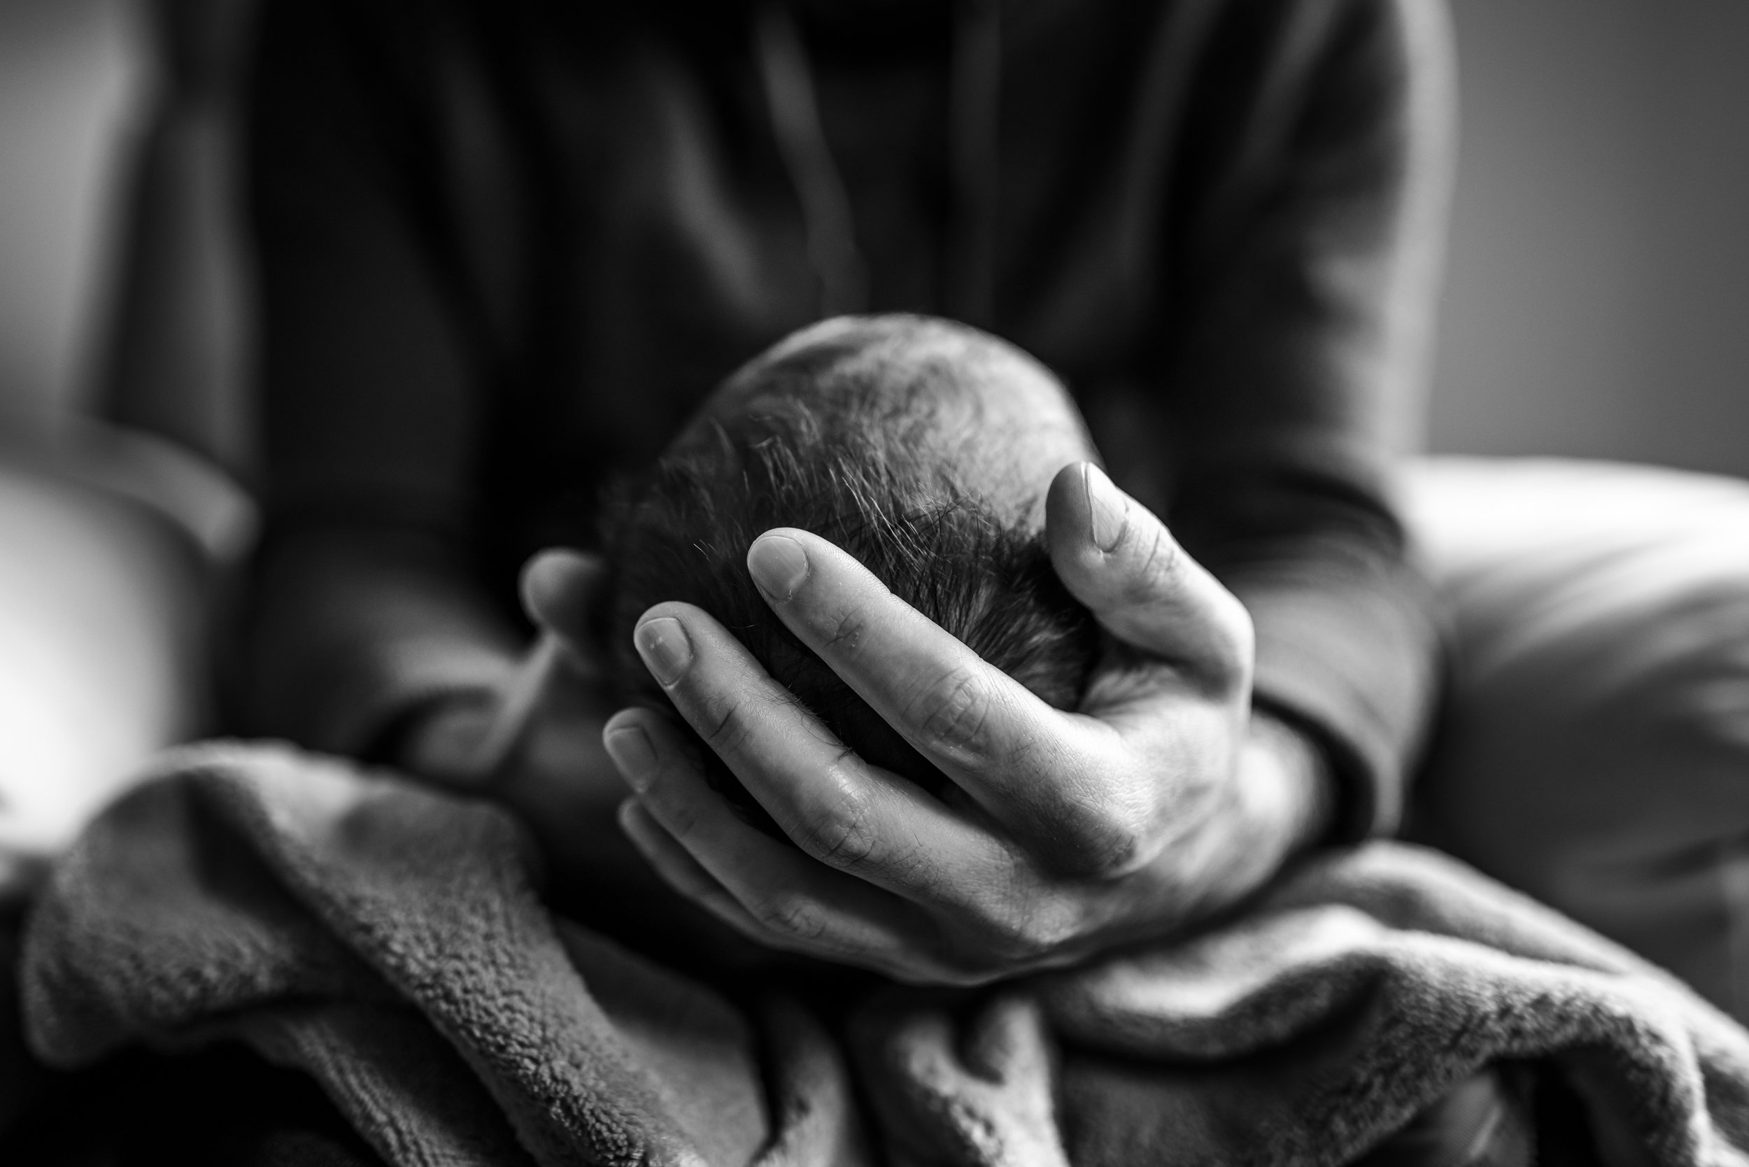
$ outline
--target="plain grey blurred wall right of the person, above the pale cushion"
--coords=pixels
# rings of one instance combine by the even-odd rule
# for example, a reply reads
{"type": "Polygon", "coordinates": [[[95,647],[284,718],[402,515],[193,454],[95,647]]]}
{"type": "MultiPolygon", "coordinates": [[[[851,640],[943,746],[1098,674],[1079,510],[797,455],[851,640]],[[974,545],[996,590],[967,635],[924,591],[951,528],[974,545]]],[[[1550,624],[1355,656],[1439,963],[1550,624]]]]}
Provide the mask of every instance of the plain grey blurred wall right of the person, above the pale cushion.
{"type": "Polygon", "coordinates": [[[1749,476],[1749,3],[1452,9],[1432,446],[1749,476]]]}

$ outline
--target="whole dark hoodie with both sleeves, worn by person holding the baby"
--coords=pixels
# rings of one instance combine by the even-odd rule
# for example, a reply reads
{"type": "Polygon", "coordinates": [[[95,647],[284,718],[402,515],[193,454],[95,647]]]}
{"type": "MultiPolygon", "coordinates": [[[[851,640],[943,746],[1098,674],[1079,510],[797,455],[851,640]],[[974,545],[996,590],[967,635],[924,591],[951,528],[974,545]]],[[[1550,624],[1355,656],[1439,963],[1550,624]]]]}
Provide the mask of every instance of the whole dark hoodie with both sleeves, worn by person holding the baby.
{"type": "MultiPolygon", "coordinates": [[[[269,3],[255,730],[490,682],[516,563],[831,311],[967,318],[1251,607],[1390,829],[1432,623],[1387,500],[1448,170],[1436,0],[269,3]]],[[[579,521],[579,516],[584,516],[579,521]]]]}

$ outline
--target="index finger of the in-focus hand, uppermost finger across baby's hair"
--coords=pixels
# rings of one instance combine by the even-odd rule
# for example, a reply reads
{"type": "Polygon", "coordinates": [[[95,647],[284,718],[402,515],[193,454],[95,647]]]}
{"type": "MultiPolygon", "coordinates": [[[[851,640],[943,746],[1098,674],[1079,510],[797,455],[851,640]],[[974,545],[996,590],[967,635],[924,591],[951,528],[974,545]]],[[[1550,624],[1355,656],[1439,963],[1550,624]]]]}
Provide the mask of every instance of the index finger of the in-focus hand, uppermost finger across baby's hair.
{"type": "Polygon", "coordinates": [[[1077,777],[1105,752],[1097,723],[1046,705],[815,534],[768,530],[747,567],[789,630],[999,822],[1030,838],[1074,822],[1077,777]]]}

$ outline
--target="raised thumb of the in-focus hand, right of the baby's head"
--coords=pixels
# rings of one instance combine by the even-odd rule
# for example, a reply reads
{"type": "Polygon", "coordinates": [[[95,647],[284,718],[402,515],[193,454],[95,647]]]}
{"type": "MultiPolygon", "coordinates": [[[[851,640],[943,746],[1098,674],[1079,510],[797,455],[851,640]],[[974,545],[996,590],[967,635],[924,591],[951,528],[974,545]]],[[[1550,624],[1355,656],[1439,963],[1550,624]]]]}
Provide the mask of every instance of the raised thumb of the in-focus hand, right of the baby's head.
{"type": "Polygon", "coordinates": [[[1058,471],[1044,523],[1056,576],[1111,635],[1205,684],[1249,684],[1245,605],[1104,471],[1091,462],[1058,471]]]}

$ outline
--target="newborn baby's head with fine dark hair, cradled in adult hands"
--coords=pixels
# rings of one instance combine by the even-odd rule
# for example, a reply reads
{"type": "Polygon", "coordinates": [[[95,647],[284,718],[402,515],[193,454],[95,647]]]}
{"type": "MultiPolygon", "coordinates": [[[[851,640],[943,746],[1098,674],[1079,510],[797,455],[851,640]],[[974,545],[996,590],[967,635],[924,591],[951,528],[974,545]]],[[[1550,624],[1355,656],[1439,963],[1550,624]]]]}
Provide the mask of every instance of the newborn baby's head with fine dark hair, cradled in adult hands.
{"type": "MultiPolygon", "coordinates": [[[[638,616],[686,600],[715,616],[848,747],[929,789],[941,773],[801,644],[747,574],[773,527],[815,532],[1044,702],[1081,698],[1093,619],[1044,546],[1044,493],[1091,458],[1041,364],[925,317],[845,317],[780,341],[722,383],[605,509],[607,642],[633,702],[666,707],[631,644],[638,616]]],[[[710,751],[712,780],[738,791],[710,751]]]]}

